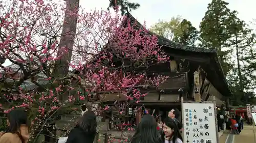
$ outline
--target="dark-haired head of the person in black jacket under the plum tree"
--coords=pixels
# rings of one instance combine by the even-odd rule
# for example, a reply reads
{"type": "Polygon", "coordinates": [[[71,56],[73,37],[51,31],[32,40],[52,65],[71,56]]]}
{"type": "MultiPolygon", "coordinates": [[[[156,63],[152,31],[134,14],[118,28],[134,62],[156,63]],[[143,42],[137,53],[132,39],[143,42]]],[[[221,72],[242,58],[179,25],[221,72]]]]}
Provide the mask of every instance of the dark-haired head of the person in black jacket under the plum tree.
{"type": "Polygon", "coordinates": [[[93,111],[85,112],[77,125],[86,133],[96,133],[97,119],[95,113],[93,111]]]}

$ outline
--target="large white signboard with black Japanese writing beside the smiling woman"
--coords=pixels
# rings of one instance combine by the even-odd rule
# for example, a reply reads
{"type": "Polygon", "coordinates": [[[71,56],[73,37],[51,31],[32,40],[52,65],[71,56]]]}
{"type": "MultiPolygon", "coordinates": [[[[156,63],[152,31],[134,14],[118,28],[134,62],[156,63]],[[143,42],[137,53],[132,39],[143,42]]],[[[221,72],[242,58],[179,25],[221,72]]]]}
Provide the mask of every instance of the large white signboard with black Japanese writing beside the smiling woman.
{"type": "Polygon", "coordinates": [[[184,143],[216,143],[214,103],[183,103],[184,143]]]}

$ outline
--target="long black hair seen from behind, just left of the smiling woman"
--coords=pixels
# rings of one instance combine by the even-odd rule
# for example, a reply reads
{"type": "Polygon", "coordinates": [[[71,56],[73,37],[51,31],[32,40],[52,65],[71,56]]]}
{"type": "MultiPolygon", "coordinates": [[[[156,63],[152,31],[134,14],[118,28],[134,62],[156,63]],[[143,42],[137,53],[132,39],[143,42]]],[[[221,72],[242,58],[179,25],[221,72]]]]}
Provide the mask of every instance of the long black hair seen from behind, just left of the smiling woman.
{"type": "Polygon", "coordinates": [[[131,143],[160,143],[161,138],[157,130],[157,122],[151,115],[145,115],[140,124],[137,126],[137,131],[131,138],[131,143]]]}

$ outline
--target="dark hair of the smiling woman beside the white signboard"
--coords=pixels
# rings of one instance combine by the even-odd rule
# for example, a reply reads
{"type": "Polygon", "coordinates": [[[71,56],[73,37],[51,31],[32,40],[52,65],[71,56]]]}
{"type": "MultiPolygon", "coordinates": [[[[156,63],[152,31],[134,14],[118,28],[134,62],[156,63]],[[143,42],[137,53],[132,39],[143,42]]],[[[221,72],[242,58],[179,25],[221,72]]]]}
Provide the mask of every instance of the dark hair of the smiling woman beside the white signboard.
{"type": "MultiPolygon", "coordinates": [[[[167,127],[171,128],[173,130],[173,136],[170,137],[170,139],[172,139],[173,142],[176,142],[177,138],[182,140],[182,136],[181,136],[181,133],[179,131],[179,128],[178,128],[177,124],[175,123],[175,121],[173,119],[170,119],[170,118],[165,119],[164,124],[167,127]]],[[[165,140],[164,136],[165,136],[165,134],[164,134],[164,132],[162,132],[161,133],[162,142],[164,142],[164,140],[165,140]]]]}

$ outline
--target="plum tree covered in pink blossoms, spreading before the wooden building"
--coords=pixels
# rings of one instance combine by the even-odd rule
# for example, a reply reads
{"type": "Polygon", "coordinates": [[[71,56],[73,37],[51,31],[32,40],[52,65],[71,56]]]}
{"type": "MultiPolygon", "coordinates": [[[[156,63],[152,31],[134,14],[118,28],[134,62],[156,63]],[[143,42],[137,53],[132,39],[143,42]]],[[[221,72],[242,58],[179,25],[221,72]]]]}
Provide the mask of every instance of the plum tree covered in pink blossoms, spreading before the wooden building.
{"type": "Polygon", "coordinates": [[[57,77],[53,69],[60,67],[55,63],[69,50],[60,47],[60,37],[73,36],[71,32],[61,33],[63,23],[67,22],[63,21],[65,4],[52,0],[11,0],[0,1],[0,9],[1,59],[18,66],[13,69],[0,65],[0,108],[6,113],[14,108],[26,109],[33,126],[32,140],[38,138],[42,129],[53,126],[61,110],[72,112],[76,103],[111,92],[139,102],[141,96],[146,96],[136,88],[139,81],[157,88],[167,78],[149,78],[137,72],[139,68],[167,62],[168,57],[161,51],[156,36],[147,34],[145,28],[139,28],[118,11],[113,15],[109,11],[86,12],[79,8],[72,59],[68,61],[70,71],[75,73],[57,77]],[[36,79],[41,73],[47,84],[36,79]],[[20,87],[26,80],[39,88],[28,91],[20,87]]]}

